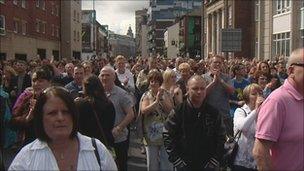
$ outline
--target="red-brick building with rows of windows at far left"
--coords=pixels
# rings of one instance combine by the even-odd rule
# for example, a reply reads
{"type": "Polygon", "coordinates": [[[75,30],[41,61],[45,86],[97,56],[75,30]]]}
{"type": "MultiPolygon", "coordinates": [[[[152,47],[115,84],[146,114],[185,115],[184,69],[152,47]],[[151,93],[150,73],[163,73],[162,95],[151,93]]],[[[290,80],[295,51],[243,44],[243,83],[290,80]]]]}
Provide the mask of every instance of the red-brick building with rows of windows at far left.
{"type": "Polygon", "coordinates": [[[60,56],[60,1],[0,0],[0,58],[60,56]]]}

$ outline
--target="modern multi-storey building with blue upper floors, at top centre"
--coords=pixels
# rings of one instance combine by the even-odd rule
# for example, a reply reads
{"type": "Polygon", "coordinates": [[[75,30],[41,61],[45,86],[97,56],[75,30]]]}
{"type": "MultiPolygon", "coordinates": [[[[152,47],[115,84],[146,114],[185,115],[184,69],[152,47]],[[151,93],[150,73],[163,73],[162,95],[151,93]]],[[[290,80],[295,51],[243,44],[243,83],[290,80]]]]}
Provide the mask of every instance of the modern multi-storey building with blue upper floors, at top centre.
{"type": "Polygon", "coordinates": [[[148,8],[148,41],[151,54],[163,54],[164,32],[189,11],[201,7],[201,0],[150,0],[148,8]]]}

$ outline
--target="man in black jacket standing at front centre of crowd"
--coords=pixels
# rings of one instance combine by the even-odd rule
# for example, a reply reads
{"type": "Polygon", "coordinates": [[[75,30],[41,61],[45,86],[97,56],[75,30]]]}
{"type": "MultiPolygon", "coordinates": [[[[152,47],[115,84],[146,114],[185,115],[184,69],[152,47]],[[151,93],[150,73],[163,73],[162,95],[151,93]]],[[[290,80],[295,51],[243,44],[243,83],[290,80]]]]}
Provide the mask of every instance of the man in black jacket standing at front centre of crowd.
{"type": "Polygon", "coordinates": [[[218,110],[207,104],[206,81],[199,75],[187,83],[188,97],[172,110],[164,129],[169,161],[177,170],[213,170],[224,151],[225,127],[218,110]]]}

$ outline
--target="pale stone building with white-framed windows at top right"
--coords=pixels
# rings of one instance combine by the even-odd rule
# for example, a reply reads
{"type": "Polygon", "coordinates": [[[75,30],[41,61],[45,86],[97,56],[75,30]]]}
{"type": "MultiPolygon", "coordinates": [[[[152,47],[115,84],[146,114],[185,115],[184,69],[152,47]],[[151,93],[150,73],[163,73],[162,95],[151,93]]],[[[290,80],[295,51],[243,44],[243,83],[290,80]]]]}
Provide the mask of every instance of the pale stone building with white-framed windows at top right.
{"type": "Polygon", "coordinates": [[[303,47],[304,2],[255,0],[255,56],[258,59],[288,58],[303,47]]]}

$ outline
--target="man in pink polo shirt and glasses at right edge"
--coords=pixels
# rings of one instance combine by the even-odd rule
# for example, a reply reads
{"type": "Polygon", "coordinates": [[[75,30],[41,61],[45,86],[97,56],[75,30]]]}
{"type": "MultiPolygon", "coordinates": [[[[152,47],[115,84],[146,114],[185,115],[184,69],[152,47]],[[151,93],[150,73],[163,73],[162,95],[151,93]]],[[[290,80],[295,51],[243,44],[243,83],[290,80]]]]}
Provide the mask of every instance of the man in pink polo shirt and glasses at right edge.
{"type": "Polygon", "coordinates": [[[304,48],[287,63],[288,78],[262,104],[253,155],[258,170],[304,170],[304,48]]]}

